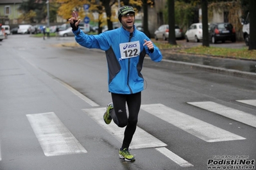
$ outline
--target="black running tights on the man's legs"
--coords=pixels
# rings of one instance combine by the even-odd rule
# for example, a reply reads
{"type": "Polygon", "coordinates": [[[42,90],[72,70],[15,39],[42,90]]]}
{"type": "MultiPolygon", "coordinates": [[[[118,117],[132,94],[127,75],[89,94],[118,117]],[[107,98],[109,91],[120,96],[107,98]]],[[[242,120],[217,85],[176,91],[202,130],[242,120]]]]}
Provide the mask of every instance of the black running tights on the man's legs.
{"type": "Polygon", "coordinates": [[[141,92],[130,95],[111,93],[111,95],[114,109],[110,111],[110,115],[118,127],[126,126],[122,148],[129,148],[137,127],[138,114],[141,108],[141,92]]]}

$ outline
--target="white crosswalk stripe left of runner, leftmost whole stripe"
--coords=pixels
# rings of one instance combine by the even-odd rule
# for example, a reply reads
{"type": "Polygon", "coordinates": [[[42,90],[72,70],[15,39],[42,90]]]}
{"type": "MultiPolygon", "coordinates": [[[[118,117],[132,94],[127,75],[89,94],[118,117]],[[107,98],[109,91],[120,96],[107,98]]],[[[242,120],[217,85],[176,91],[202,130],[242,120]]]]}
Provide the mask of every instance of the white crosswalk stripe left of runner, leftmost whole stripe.
{"type": "Polygon", "coordinates": [[[87,153],[54,112],[26,116],[46,157],[87,153]]]}

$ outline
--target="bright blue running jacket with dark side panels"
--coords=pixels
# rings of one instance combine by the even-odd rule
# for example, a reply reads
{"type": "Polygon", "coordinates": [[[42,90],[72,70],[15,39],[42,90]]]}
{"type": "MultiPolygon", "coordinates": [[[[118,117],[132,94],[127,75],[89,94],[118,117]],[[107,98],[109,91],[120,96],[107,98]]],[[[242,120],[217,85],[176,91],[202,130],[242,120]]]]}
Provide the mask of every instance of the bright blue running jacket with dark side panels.
{"type": "Polygon", "coordinates": [[[133,26],[130,33],[123,27],[106,31],[99,35],[86,35],[83,31],[73,31],[76,42],[89,49],[105,50],[108,64],[108,91],[117,94],[138,93],[144,88],[141,74],[142,64],[146,54],[151,60],[159,62],[162,54],[154,45],[153,52],[149,51],[144,40],[150,41],[141,31],[133,26]]]}

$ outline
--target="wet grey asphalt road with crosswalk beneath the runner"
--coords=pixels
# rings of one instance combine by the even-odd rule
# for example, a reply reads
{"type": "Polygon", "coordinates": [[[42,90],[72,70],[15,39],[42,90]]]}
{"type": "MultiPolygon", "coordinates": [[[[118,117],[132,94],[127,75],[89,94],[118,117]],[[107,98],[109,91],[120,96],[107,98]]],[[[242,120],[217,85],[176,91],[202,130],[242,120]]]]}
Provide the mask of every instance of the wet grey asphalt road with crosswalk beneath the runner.
{"type": "Polygon", "coordinates": [[[102,119],[105,53],[65,42],[0,43],[1,170],[255,169],[255,80],[146,58],[130,163],[118,158],[123,129],[102,119]]]}

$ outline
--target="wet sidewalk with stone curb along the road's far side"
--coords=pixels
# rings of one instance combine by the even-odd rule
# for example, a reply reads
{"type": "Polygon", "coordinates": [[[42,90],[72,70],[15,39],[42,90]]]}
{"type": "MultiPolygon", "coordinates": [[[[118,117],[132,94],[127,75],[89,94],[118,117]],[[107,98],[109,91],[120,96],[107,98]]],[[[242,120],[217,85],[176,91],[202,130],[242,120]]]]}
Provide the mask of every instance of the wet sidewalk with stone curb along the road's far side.
{"type": "MultiPolygon", "coordinates": [[[[76,42],[62,43],[61,46],[68,48],[84,48],[76,42]]],[[[99,49],[90,50],[102,51],[99,49]]],[[[173,50],[161,50],[161,52],[163,61],[173,63],[174,65],[188,66],[190,68],[256,80],[256,61],[253,60],[181,54],[173,52],[173,50]]]]}

